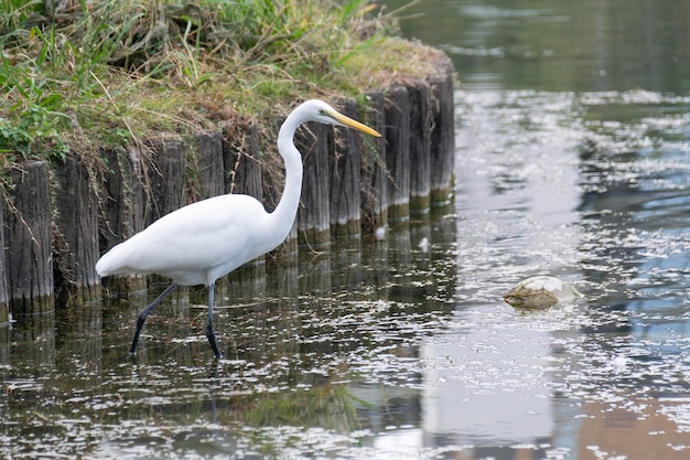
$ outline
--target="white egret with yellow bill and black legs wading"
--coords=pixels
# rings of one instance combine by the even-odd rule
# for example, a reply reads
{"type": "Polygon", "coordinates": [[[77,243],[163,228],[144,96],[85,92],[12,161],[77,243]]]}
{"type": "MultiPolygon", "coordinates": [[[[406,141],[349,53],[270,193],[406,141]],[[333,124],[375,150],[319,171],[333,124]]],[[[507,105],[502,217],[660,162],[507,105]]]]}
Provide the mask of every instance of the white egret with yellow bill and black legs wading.
{"type": "Polygon", "coordinates": [[[245,263],[274,249],[290,233],[300,202],[303,169],[302,156],[293,137],[305,121],[351,127],[380,137],[374,129],[337,113],[326,103],[308,100],[288,116],[278,133],[278,151],[285,167],[285,188],[273,212],[267,213],[259,201],[248,195],[211,197],[161,217],[98,260],[96,271],[101,277],[158,274],[173,280],[139,313],[130,353],[137,349],[141,328],[151,310],[177,286],[206,285],[206,338],[216,357],[220,357],[213,330],[215,282],[245,263]]]}

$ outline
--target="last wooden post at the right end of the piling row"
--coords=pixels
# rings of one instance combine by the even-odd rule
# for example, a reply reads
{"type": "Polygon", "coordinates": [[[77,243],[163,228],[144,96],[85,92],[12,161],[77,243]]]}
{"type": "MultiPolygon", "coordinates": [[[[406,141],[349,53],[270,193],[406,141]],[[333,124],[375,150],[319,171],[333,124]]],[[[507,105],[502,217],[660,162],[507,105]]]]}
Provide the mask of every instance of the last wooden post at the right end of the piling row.
{"type": "Polygon", "coordinates": [[[431,205],[446,205],[453,193],[455,107],[453,71],[430,78],[431,84],[431,205]]]}

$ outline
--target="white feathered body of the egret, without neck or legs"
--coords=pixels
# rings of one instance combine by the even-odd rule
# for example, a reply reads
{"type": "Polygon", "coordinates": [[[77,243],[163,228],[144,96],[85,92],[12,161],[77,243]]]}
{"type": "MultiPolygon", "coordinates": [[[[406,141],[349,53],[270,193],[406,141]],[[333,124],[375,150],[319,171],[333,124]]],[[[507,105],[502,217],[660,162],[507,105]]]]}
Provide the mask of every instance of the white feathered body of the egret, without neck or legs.
{"type": "Polygon", "coordinates": [[[101,277],[158,274],[183,286],[211,285],[282,243],[288,233],[270,216],[248,195],[203,200],[115,246],[98,260],[96,270],[101,277]]]}

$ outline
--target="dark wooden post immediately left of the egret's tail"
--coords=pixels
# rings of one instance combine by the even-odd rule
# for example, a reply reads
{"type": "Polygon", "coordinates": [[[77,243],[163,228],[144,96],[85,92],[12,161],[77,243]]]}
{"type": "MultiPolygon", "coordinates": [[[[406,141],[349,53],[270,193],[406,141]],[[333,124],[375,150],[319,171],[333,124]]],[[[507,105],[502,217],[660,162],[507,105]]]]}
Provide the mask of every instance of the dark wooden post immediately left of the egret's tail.
{"type": "Polygon", "coordinates": [[[98,207],[89,167],[67,157],[55,170],[55,297],[58,304],[83,303],[100,297],[96,275],[98,207]]]}

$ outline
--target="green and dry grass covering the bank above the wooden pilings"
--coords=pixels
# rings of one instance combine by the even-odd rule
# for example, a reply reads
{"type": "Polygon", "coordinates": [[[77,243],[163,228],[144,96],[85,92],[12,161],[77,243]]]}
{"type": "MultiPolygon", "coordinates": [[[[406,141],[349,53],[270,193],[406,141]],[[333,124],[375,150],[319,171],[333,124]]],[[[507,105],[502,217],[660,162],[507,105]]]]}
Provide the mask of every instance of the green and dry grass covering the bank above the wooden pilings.
{"type": "Polygon", "coordinates": [[[357,94],[416,61],[395,31],[366,0],[3,0],[0,165],[357,94]]]}

